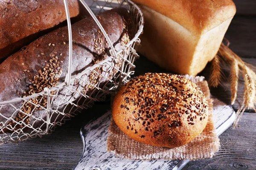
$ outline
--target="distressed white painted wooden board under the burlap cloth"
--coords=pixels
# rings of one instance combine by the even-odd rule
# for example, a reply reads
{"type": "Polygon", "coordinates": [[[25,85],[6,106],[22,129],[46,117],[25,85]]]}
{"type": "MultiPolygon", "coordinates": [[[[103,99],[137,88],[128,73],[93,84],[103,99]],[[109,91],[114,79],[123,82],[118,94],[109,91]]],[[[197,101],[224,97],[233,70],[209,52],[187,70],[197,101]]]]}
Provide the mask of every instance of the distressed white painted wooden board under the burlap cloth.
{"type": "MultiPolygon", "coordinates": [[[[213,122],[218,136],[233,124],[235,117],[233,108],[218,99],[213,100],[213,122]]],[[[106,150],[110,121],[109,111],[81,129],[84,152],[74,170],[180,170],[189,162],[189,160],[117,158],[106,150]]]]}

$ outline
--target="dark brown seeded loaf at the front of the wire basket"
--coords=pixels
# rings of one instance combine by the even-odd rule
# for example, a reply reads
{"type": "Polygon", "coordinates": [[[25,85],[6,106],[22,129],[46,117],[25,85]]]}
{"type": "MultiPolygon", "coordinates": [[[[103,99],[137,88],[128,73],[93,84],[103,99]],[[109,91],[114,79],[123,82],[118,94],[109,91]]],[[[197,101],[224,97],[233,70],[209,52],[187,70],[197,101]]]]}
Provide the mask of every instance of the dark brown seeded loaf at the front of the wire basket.
{"type": "MultiPolygon", "coordinates": [[[[131,22],[130,15],[125,8],[114,8],[100,13],[97,18],[113,42],[116,50],[119,50],[121,45],[125,45],[134,36],[135,26],[131,22]]],[[[73,24],[72,36],[72,75],[106,59],[109,55],[108,42],[91,17],[73,24]]],[[[2,82],[0,86],[0,101],[39,93],[44,91],[45,87],[51,88],[64,82],[68,71],[68,48],[68,30],[67,27],[63,27],[44,35],[11,57],[8,57],[0,65],[0,81],[2,82]]],[[[108,64],[118,67],[119,59],[115,60],[114,65],[112,62],[108,64]]],[[[111,74],[114,70],[111,70],[109,65],[96,68],[96,70],[111,79],[111,74]]],[[[95,85],[107,81],[107,79],[99,78],[93,73],[85,74],[81,79],[95,85]]],[[[82,81],[75,81],[73,84],[74,90],[82,93],[87,92],[88,94],[90,90],[93,90],[93,86],[86,85],[82,81]],[[81,86],[76,85],[78,83],[81,86]]],[[[68,103],[66,99],[74,101],[79,96],[74,91],[68,91],[66,88],[52,92],[52,94],[57,93],[59,97],[52,97],[51,108],[59,106],[58,109],[61,112],[64,110],[64,105],[68,103]],[[61,108],[61,106],[63,107],[61,108]]],[[[36,105],[40,103],[44,108],[47,105],[46,98],[42,99],[42,97],[32,99],[31,102],[36,105]]],[[[21,102],[14,103],[13,105],[16,108],[21,108],[21,111],[18,113],[14,113],[15,109],[10,105],[2,107],[0,113],[7,118],[12,117],[16,122],[12,119],[7,121],[3,116],[0,116],[0,131],[12,131],[10,129],[13,127],[16,130],[24,127],[24,125],[17,125],[17,122],[21,120],[26,122],[26,125],[32,125],[34,128],[40,127],[41,125],[38,123],[40,121],[35,122],[35,118],[42,117],[45,120],[46,112],[44,109],[36,108],[32,113],[33,116],[30,117],[32,110],[35,109],[33,104],[26,103],[22,106],[21,102]],[[9,130],[5,128],[8,124],[9,130]]],[[[61,116],[58,119],[61,119],[61,116]]],[[[55,118],[51,119],[51,121],[54,120],[55,118]]]]}

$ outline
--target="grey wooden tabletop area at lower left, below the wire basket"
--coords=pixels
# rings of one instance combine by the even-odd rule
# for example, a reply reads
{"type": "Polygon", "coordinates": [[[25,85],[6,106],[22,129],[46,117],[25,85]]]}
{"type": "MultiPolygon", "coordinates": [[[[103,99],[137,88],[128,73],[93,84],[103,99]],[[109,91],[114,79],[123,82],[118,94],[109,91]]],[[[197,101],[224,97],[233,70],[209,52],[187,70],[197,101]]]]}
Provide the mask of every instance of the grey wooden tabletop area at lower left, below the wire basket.
{"type": "Polygon", "coordinates": [[[83,143],[81,127],[110,109],[110,104],[97,104],[57,127],[51,135],[17,144],[0,145],[0,170],[70,170],[79,161],[83,143]]]}

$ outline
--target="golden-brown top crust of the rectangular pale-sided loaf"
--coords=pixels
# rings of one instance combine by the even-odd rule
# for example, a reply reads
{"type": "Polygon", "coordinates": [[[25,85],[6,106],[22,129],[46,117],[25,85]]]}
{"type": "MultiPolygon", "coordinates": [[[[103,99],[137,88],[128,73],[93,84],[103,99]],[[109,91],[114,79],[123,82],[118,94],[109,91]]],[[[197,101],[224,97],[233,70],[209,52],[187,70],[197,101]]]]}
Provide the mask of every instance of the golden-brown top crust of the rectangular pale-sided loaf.
{"type": "Polygon", "coordinates": [[[179,23],[193,34],[202,34],[233,17],[232,0],[133,0],[179,23]]]}

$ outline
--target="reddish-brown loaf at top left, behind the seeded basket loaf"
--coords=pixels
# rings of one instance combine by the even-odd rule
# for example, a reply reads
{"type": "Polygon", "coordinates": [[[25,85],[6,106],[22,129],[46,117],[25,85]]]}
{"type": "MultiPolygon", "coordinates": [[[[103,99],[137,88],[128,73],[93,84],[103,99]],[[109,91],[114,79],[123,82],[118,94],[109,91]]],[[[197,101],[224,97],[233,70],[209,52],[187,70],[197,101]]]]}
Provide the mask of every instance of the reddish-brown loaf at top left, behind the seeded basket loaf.
{"type": "MultiPolygon", "coordinates": [[[[68,0],[70,17],[79,14],[77,0],[68,0]]],[[[39,32],[66,20],[63,0],[1,0],[0,59],[8,57],[36,37],[39,32]]]]}

